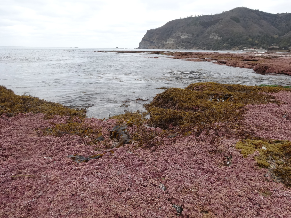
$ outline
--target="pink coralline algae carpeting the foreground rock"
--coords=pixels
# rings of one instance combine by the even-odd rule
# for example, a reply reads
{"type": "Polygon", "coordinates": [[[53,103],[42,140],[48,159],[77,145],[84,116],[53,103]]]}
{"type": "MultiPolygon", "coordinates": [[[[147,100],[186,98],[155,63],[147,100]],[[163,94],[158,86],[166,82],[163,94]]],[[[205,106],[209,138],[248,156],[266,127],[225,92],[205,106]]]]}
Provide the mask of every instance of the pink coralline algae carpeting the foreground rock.
{"type": "MultiPolygon", "coordinates": [[[[281,105],[247,105],[240,128],[256,137],[291,140],[291,94],[272,95],[281,105]]],[[[234,130],[165,135],[164,144],[148,149],[130,142],[77,164],[66,156],[106,149],[95,151],[102,146],[89,146],[86,136],[43,135],[67,119],[43,117],[0,118],[0,217],[290,217],[290,188],[258,167],[258,153],[243,158],[234,130]]],[[[104,142],[116,126],[110,119],[84,123],[99,128],[104,142]]],[[[128,129],[133,133],[136,127],[128,129]]]]}

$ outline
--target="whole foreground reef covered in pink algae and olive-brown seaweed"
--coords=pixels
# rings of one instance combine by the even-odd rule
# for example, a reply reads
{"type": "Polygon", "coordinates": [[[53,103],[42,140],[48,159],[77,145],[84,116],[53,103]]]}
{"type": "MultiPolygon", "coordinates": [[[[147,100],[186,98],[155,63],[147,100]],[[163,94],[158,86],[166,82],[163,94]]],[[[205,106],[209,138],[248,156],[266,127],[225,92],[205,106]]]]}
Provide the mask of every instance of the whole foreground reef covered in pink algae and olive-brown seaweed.
{"type": "Polygon", "coordinates": [[[290,104],[194,83],[101,120],[1,86],[0,217],[288,218],[290,104]]]}

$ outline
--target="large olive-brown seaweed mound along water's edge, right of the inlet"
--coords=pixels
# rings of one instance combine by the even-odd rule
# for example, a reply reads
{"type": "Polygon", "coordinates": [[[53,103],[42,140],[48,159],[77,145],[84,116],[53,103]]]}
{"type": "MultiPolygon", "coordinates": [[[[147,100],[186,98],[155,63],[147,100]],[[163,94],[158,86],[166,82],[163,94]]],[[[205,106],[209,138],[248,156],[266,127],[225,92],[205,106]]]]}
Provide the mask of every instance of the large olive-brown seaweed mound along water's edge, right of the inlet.
{"type": "Polygon", "coordinates": [[[283,87],[259,87],[219,83],[193,83],[185,89],[169,88],[145,105],[148,123],[160,128],[184,123],[199,125],[230,122],[242,117],[245,104],[279,103],[264,92],[291,91],[283,87]]]}

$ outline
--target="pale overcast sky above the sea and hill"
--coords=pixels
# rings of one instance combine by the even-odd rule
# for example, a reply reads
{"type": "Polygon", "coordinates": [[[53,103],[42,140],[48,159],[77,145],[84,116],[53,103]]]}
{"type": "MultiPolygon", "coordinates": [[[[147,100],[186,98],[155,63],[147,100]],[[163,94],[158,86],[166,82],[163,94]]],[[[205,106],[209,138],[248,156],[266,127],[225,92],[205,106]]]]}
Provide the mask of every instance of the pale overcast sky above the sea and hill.
{"type": "Polygon", "coordinates": [[[291,12],[290,0],[0,0],[0,46],[133,49],[168,21],[242,6],[291,12]]]}

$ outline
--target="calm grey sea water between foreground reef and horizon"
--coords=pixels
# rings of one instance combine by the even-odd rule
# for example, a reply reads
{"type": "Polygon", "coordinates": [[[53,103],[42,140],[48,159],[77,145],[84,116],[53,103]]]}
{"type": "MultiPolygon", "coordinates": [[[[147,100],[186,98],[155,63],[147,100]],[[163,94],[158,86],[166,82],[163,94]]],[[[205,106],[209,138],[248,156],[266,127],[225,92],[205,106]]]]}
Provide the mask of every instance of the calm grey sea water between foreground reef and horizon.
{"type": "Polygon", "coordinates": [[[93,52],[104,50],[127,49],[0,47],[0,85],[15,94],[87,108],[88,117],[101,119],[125,110],[144,110],[143,104],[163,91],[159,87],[184,88],[207,81],[291,85],[291,76],[212,62],[149,53],[93,52]]]}

